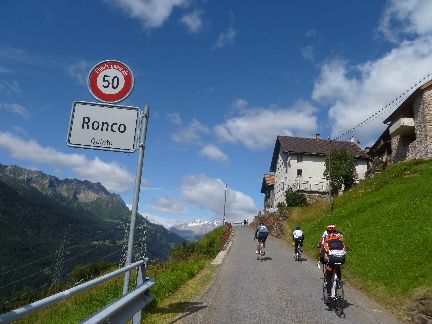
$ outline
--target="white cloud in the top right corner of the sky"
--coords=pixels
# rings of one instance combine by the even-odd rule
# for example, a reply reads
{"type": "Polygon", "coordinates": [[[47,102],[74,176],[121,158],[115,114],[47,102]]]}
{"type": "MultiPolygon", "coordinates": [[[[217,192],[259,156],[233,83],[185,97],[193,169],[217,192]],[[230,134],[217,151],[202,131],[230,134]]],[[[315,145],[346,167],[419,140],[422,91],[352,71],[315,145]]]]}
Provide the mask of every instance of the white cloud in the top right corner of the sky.
{"type": "Polygon", "coordinates": [[[393,42],[398,42],[403,35],[431,35],[431,16],[430,0],[390,0],[381,16],[378,31],[393,42]]]}

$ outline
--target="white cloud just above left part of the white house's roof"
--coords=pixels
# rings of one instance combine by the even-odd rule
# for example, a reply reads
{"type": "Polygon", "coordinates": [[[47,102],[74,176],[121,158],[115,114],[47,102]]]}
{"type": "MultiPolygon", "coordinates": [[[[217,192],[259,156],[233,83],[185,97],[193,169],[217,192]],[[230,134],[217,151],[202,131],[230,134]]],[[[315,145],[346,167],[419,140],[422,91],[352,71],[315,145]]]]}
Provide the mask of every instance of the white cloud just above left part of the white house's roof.
{"type": "Polygon", "coordinates": [[[277,135],[306,136],[317,129],[316,109],[299,101],[292,107],[250,108],[214,127],[220,140],[240,143],[251,150],[274,145],[277,135]]]}

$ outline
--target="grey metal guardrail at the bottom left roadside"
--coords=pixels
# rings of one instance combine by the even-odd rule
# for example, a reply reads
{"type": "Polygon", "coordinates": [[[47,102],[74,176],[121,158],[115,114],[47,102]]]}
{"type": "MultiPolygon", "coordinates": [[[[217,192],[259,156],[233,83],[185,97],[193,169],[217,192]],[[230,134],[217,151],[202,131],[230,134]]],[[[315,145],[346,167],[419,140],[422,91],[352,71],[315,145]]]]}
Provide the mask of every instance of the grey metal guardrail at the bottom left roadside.
{"type": "Polygon", "coordinates": [[[14,309],[8,313],[1,314],[0,323],[10,323],[11,321],[16,321],[39,309],[45,308],[51,304],[57,303],[63,299],[88,290],[134,268],[137,268],[136,288],[128,294],[120,297],[115,302],[106,306],[99,312],[93,314],[91,317],[85,319],[82,323],[101,323],[107,320],[109,320],[111,323],[118,323],[120,321],[125,322],[130,318],[133,318],[132,323],[139,323],[141,321],[141,310],[153,299],[149,289],[154,285],[154,281],[145,277],[147,261],[147,258],[137,261],[116,271],[110,272],[102,277],[64,290],[55,295],[48,296],[26,306],[14,309]]]}

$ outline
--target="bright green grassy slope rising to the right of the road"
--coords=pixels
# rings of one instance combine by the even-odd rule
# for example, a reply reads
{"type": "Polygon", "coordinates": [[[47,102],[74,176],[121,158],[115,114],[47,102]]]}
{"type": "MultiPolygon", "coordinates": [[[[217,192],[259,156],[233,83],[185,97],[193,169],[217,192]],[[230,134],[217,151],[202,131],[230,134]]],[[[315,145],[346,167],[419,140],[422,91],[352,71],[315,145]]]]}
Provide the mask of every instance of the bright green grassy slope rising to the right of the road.
{"type": "Polygon", "coordinates": [[[337,198],[331,215],[321,204],[295,210],[289,223],[302,226],[313,254],[334,223],[349,249],[345,278],[388,306],[432,291],[432,161],[393,165],[337,198]]]}

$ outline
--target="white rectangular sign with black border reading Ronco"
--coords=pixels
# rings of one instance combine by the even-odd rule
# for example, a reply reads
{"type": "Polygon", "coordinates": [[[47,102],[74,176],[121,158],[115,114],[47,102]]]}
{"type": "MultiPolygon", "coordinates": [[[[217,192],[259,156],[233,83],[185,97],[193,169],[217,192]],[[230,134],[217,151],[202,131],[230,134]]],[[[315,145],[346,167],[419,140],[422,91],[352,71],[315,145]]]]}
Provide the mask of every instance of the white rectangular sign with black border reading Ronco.
{"type": "Polygon", "coordinates": [[[76,101],[72,106],[67,145],[134,152],[138,121],[137,107],[76,101]]]}

